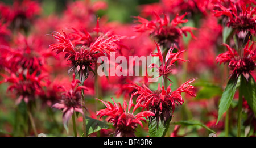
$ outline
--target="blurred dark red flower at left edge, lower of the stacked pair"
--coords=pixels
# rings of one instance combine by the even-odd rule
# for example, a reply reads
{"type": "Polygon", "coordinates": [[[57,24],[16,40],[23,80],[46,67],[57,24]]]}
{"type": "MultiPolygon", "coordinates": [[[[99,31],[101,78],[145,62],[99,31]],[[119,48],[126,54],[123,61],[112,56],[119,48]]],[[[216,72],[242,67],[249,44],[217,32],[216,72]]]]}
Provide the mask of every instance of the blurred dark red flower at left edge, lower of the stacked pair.
{"type": "Polygon", "coordinates": [[[46,74],[39,74],[38,71],[34,71],[32,74],[28,70],[18,71],[18,74],[11,73],[10,76],[1,74],[4,79],[0,82],[9,82],[11,85],[7,88],[7,91],[14,92],[18,97],[16,104],[19,104],[22,100],[28,103],[29,101],[35,100],[43,91],[43,86],[46,86],[44,79],[47,77],[46,74]]]}

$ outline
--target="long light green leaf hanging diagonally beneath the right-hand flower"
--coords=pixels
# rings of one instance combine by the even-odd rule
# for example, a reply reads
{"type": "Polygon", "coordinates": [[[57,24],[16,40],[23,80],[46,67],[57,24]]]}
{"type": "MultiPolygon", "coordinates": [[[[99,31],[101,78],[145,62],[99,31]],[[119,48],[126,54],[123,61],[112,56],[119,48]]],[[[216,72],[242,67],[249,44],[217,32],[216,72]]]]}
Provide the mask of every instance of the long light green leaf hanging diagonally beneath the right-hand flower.
{"type": "Polygon", "coordinates": [[[241,75],[238,78],[232,77],[229,79],[229,82],[221,96],[220,104],[218,105],[218,120],[216,124],[218,124],[218,121],[220,121],[222,115],[228,110],[234,98],[234,94],[237,88],[240,86],[240,83],[241,75]]]}

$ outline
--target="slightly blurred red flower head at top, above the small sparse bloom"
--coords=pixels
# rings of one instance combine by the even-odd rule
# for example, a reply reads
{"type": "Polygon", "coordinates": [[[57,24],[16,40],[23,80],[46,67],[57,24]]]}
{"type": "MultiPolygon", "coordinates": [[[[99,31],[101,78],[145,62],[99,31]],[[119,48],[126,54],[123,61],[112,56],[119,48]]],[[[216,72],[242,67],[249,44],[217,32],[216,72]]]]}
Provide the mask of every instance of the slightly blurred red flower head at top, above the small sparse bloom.
{"type": "Polygon", "coordinates": [[[196,28],[188,26],[180,27],[182,23],[188,22],[187,19],[183,20],[187,13],[181,16],[177,14],[171,22],[166,14],[164,14],[164,18],[160,18],[160,16],[156,13],[154,14],[156,16],[156,19],[151,21],[144,19],[140,16],[135,17],[138,19],[135,22],[141,23],[135,26],[135,31],[149,31],[150,35],[153,36],[160,45],[166,46],[170,46],[172,43],[179,43],[180,37],[182,37],[183,34],[187,36],[187,32],[191,33],[192,37],[195,37],[192,33],[192,30],[195,30],[196,28]]]}

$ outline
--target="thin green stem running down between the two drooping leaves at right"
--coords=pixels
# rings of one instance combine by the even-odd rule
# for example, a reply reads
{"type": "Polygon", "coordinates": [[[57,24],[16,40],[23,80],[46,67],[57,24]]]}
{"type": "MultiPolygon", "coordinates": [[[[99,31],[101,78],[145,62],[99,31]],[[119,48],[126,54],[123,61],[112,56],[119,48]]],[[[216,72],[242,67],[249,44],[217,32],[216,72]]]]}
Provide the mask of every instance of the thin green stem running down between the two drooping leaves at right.
{"type": "Polygon", "coordinates": [[[242,105],[243,105],[243,94],[242,94],[242,88],[239,87],[239,100],[238,100],[238,111],[237,111],[237,137],[241,136],[242,105]]]}

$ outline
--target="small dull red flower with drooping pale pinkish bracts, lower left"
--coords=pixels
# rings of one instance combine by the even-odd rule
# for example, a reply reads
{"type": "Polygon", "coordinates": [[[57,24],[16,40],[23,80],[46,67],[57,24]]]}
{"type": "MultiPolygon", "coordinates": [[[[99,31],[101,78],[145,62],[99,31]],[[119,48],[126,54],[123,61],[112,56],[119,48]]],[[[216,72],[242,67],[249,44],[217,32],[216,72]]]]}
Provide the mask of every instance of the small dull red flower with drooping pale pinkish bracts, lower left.
{"type": "Polygon", "coordinates": [[[59,86],[63,89],[61,94],[62,98],[59,103],[55,103],[52,107],[57,109],[63,109],[63,124],[67,127],[67,122],[71,118],[74,111],[84,114],[82,111],[82,105],[80,100],[82,98],[81,90],[87,90],[85,86],[77,86],[81,83],[79,80],[75,79],[75,74],[73,74],[73,81],[71,83],[71,88],[68,90],[64,86],[59,86]]]}

